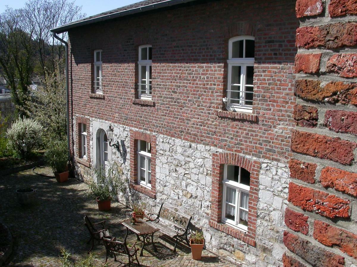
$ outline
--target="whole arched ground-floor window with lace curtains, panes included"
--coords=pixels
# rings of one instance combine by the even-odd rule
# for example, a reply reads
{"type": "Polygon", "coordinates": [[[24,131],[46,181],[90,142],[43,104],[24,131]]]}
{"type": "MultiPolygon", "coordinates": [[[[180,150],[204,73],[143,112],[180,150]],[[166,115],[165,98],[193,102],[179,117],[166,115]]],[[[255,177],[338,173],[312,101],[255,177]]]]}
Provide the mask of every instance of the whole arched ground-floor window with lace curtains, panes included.
{"type": "Polygon", "coordinates": [[[250,173],[239,166],[225,164],[223,172],[222,222],[248,230],[250,173]]]}

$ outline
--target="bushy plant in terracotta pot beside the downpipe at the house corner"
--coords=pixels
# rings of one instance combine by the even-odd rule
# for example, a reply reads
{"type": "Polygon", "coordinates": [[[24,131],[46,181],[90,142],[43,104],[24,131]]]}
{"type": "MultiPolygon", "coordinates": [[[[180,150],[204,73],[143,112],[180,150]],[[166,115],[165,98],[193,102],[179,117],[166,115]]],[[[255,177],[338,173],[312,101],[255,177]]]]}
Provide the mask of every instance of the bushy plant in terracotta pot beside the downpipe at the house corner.
{"type": "Polygon", "coordinates": [[[66,182],[69,174],[67,142],[61,140],[51,141],[47,146],[45,158],[51,166],[57,182],[66,182]]]}

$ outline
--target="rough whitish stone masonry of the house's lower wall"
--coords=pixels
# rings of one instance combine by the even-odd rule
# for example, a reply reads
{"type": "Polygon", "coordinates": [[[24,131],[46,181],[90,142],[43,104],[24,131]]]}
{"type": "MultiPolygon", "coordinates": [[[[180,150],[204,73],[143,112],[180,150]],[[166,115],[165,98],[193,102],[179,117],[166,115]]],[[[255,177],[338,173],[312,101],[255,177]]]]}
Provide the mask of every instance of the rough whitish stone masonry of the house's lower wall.
{"type": "MultiPolygon", "coordinates": [[[[90,118],[90,153],[95,149],[96,132],[106,130],[109,121],[90,118]]],[[[138,132],[127,126],[112,124],[114,141],[121,141],[119,153],[111,149],[111,159],[120,164],[124,175],[131,177],[130,146],[131,133],[138,132]],[[124,155],[124,157],[122,156],[124,155]]],[[[211,192],[212,192],[212,156],[225,152],[219,148],[191,143],[185,140],[141,131],[156,137],[156,199],[141,193],[128,184],[128,193],[120,195],[119,201],[131,206],[133,201],[140,199],[147,203],[146,212],[157,212],[161,203],[169,203],[192,215],[192,229],[202,229],[206,247],[230,261],[242,266],[279,266],[285,252],[282,235],[285,225],[282,220],[288,197],[288,166],[268,160],[237,156],[249,161],[260,162],[258,170],[259,189],[257,199],[257,217],[255,224],[255,245],[235,238],[223,231],[210,226],[211,192]]],[[[91,168],[95,167],[91,161],[91,168]]],[[[75,163],[76,175],[80,179],[93,179],[91,170],[75,163]]]]}

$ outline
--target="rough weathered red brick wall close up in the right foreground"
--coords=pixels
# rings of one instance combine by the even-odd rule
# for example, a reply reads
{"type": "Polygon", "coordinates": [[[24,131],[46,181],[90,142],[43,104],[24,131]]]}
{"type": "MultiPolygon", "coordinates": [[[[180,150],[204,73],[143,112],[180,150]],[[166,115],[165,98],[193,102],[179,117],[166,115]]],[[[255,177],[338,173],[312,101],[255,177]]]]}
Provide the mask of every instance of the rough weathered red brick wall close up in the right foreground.
{"type": "Polygon", "coordinates": [[[297,0],[284,266],[356,266],[357,2],[297,0]]]}

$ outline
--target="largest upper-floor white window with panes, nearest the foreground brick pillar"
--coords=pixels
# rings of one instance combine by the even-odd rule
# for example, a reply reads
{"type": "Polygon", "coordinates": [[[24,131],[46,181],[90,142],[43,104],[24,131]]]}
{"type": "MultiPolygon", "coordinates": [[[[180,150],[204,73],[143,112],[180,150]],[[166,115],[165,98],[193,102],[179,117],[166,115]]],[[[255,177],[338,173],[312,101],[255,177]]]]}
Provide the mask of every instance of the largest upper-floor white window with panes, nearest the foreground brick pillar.
{"type": "Polygon", "coordinates": [[[252,112],[255,38],[233,37],[228,42],[227,108],[252,112]]]}

